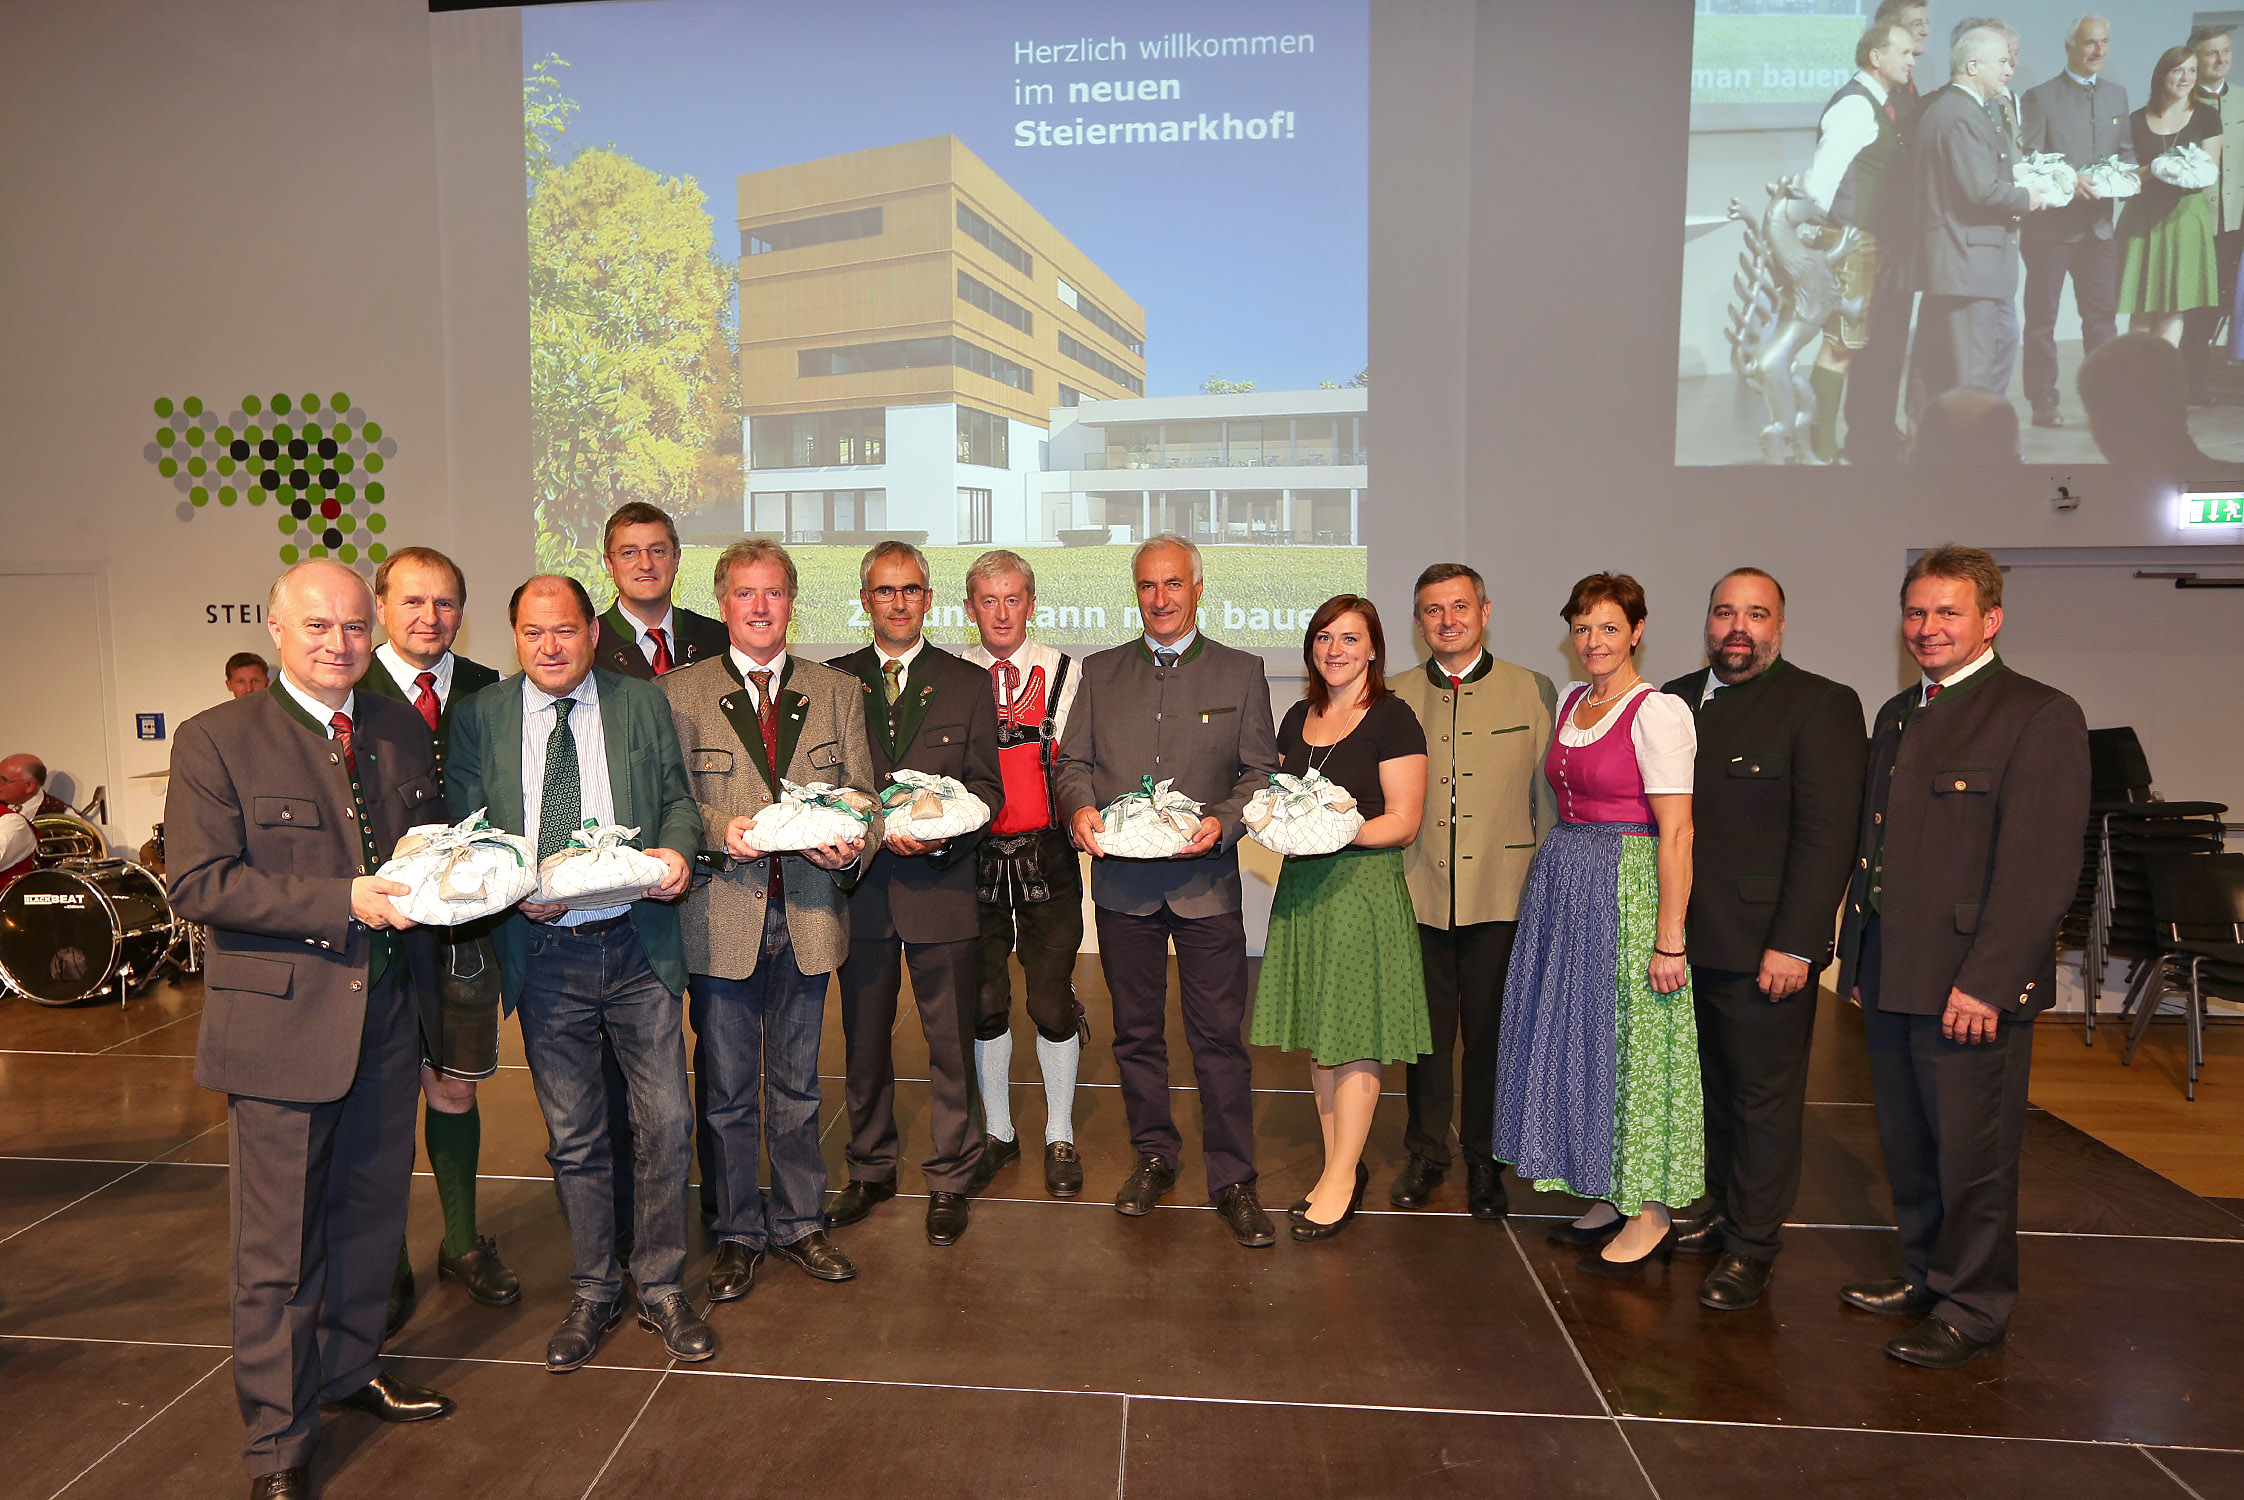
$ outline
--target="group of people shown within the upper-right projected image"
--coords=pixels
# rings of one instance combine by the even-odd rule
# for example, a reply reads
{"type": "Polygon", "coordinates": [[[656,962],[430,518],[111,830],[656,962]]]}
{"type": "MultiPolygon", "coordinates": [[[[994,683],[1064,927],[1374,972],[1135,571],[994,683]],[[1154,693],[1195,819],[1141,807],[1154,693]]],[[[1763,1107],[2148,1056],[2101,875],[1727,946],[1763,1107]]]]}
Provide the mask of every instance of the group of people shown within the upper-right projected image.
{"type": "Polygon", "coordinates": [[[2228,85],[2231,29],[2204,25],[2159,52],[2136,110],[2107,76],[2103,16],[2073,20],[2064,67],[2022,90],[2020,40],[1999,18],[1968,16],[1950,31],[1943,79],[1925,79],[1928,4],[1883,0],[1856,43],[1854,79],[1818,119],[1797,213],[1833,243],[1854,231],[1840,263],[1851,308],[1831,319],[1811,371],[1813,451],[1827,463],[1842,451],[1842,406],[1847,460],[1896,460],[1907,447],[1896,406],[1916,431],[1950,391],[2002,397],[2020,364],[2033,424],[2062,427],[2056,328],[2067,281],[2082,355],[2112,341],[2125,314],[2132,330],[2183,350],[2190,404],[2213,402],[2210,341],[2237,296],[2244,251],[2244,144],[2228,144],[2244,137],[2244,94],[2228,85]],[[2183,146],[2213,162],[2210,186],[2174,186],[2152,171],[2183,146]],[[2038,153],[2076,171],[2116,157],[2141,191],[2114,202],[2080,177],[2060,198],[2017,180],[2017,164],[2038,153]]]}

